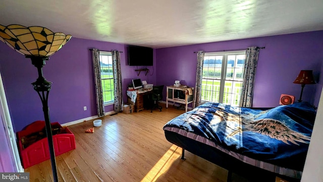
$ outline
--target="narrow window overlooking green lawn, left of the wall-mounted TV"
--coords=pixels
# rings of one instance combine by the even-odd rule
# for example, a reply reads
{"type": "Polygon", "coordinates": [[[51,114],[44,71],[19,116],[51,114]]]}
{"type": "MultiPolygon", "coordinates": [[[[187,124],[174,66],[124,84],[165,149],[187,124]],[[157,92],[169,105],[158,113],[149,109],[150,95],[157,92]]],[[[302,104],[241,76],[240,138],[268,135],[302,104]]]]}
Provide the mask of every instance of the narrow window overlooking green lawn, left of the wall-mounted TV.
{"type": "Polygon", "coordinates": [[[114,82],[111,52],[100,51],[100,72],[104,105],[114,103],[114,82]]]}

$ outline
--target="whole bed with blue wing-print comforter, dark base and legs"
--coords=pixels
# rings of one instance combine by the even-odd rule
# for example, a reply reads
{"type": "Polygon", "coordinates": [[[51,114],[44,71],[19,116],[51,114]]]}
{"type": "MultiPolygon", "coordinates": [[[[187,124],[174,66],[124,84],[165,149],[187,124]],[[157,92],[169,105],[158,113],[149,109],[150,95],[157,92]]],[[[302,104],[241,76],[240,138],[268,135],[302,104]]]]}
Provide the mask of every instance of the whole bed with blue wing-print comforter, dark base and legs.
{"type": "Polygon", "coordinates": [[[275,108],[205,103],[163,127],[166,139],[251,181],[300,181],[316,111],[307,102],[275,108]]]}

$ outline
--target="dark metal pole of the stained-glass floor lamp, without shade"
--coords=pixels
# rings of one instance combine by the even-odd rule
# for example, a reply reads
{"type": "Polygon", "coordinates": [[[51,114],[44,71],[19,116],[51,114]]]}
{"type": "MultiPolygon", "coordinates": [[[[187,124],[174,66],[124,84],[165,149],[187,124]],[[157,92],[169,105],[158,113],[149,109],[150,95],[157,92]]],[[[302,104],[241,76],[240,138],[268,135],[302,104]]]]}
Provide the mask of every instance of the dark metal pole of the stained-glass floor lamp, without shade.
{"type": "Polygon", "coordinates": [[[31,59],[31,63],[37,68],[38,70],[38,78],[35,82],[31,83],[34,87],[34,90],[38,93],[42,103],[42,110],[44,113],[45,118],[45,130],[48,140],[48,147],[49,147],[49,154],[50,154],[50,161],[51,161],[51,170],[53,179],[55,182],[58,182],[58,173],[56,167],[56,159],[55,159],[55,151],[54,145],[52,141],[52,133],[51,133],[51,123],[49,118],[49,110],[48,110],[48,94],[51,88],[51,82],[47,81],[42,74],[42,67],[46,64],[46,60],[48,57],[44,56],[26,56],[26,58],[31,59]]]}

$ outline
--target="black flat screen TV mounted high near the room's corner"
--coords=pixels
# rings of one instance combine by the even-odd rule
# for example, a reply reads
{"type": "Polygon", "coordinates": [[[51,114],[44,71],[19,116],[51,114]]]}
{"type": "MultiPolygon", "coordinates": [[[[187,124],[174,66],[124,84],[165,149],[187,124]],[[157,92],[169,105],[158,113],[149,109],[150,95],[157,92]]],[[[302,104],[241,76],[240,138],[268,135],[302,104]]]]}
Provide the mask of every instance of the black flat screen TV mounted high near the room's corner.
{"type": "Polygon", "coordinates": [[[136,45],[128,46],[129,66],[152,66],[153,54],[151,48],[136,45]]]}

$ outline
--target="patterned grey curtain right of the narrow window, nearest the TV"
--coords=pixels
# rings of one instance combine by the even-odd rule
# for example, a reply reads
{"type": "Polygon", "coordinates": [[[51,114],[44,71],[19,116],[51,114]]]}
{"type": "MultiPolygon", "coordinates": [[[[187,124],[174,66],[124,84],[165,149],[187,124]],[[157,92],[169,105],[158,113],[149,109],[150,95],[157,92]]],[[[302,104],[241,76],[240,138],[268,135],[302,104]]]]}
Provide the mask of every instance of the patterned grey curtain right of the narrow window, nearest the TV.
{"type": "Polygon", "coordinates": [[[113,79],[115,88],[115,111],[120,112],[123,109],[122,98],[122,79],[121,79],[121,66],[120,66],[120,52],[111,51],[112,53],[112,67],[113,67],[113,79]]]}

